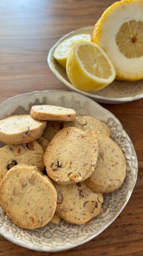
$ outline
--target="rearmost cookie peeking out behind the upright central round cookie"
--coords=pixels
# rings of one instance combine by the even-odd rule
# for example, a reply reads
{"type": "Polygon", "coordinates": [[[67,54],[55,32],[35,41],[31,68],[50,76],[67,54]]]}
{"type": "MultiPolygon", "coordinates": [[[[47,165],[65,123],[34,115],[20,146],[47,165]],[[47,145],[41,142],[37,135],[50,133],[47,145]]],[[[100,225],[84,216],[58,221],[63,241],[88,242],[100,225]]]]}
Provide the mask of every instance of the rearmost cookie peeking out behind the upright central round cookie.
{"type": "Polygon", "coordinates": [[[83,131],[90,130],[90,131],[101,131],[102,133],[106,134],[110,137],[110,130],[109,127],[106,125],[105,122],[99,121],[93,117],[76,117],[72,122],[64,122],[63,127],[77,127],[82,129],[83,131]]]}

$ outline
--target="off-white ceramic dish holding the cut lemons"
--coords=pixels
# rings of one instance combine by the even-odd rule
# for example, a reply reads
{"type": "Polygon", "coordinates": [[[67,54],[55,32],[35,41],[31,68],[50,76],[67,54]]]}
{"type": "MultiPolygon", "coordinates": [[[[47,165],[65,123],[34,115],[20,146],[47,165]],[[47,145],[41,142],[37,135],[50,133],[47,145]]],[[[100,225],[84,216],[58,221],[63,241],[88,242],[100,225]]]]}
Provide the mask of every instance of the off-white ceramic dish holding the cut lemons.
{"type": "Polygon", "coordinates": [[[53,53],[55,48],[63,40],[70,38],[70,36],[76,34],[88,33],[92,35],[94,27],[80,28],[79,30],[73,31],[70,34],[63,36],[49,51],[47,57],[47,63],[51,71],[55,76],[58,77],[68,88],[72,91],[79,92],[90,98],[96,99],[97,102],[108,103],[108,104],[119,104],[129,101],[134,101],[143,97],[143,80],[136,82],[117,81],[114,80],[110,85],[105,88],[98,90],[98,92],[84,92],[83,90],[75,88],[67,77],[66,69],[58,64],[54,59],[53,53]]]}

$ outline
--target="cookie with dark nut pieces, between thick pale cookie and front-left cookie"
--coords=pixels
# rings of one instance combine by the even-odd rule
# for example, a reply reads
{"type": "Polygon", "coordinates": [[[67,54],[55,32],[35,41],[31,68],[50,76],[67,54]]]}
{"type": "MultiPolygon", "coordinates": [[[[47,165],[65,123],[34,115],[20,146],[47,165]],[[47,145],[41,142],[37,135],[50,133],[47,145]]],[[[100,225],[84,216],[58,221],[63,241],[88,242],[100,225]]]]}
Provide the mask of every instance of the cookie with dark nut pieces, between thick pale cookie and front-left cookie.
{"type": "Polygon", "coordinates": [[[0,148],[0,162],[0,182],[8,170],[20,163],[36,166],[41,172],[45,168],[44,151],[36,141],[27,144],[5,145],[0,148]]]}

